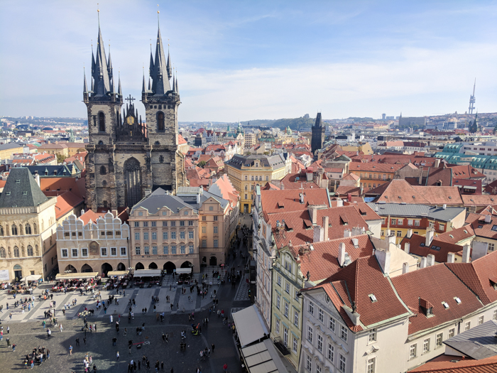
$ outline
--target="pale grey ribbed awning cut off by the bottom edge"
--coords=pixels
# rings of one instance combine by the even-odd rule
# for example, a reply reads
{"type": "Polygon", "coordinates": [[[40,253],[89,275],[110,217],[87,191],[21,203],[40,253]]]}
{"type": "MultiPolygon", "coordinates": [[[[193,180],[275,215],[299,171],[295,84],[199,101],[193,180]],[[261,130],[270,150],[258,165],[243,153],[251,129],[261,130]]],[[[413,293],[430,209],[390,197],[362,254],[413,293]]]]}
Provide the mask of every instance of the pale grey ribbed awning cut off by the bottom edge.
{"type": "Polygon", "coordinates": [[[290,362],[276,350],[271,339],[241,349],[249,373],[297,373],[290,362]]]}

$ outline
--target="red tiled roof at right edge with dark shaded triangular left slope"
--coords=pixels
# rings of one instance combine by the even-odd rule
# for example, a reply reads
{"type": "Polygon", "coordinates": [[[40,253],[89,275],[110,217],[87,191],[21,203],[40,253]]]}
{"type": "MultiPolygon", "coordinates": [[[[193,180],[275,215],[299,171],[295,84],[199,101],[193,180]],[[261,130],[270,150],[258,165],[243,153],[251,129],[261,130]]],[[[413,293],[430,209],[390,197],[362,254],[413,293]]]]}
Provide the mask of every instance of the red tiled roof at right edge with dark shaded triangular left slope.
{"type": "Polygon", "coordinates": [[[446,266],[476,293],[484,305],[497,301],[497,291],[491,283],[497,281],[497,252],[471,263],[447,263],[446,266]]]}

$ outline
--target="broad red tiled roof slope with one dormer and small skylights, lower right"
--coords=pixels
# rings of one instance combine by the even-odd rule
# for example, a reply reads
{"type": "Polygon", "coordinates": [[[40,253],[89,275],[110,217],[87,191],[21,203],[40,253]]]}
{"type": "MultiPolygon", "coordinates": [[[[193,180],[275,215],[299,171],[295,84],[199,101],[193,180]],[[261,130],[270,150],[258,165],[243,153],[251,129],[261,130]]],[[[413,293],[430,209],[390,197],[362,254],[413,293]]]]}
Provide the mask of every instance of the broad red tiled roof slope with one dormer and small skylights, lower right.
{"type": "Polygon", "coordinates": [[[409,334],[459,320],[481,308],[474,293],[444,265],[417,269],[393,277],[391,281],[404,303],[417,312],[410,318],[409,334]],[[461,299],[461,304],[457,304],[455,297],[461,299]],[[432,316],[425,315],[420,298],[432,304],[432,316]],[[446,302],[449,308],[445,309],[442,302],[446,302]]]}

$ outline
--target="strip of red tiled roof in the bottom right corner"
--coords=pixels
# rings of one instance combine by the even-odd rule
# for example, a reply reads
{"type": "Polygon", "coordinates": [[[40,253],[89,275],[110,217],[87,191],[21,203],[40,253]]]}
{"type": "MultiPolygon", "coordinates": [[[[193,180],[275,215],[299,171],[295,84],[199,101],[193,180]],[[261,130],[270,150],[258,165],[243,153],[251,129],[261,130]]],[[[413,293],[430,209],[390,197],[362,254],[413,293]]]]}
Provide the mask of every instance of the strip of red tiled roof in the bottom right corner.
{"type": "MultiPolygon", "coordinates": [[[[449,360],[454,360],[451,356],[449,360]]],[[[409,372],[413,373],[496,373],[497,355],[481,360],[459,360],[458,362],[427,362],[409,372]]]]}

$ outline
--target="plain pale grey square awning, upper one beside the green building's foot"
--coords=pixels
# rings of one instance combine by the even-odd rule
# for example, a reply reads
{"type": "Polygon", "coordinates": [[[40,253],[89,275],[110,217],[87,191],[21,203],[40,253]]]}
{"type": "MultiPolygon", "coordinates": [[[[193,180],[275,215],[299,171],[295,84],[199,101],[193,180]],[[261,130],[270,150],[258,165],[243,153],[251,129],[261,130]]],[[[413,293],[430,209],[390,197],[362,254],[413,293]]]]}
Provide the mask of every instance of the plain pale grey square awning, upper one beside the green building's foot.
{"type": "Polygon", "coordinates": [[[250,345],[252,342],[269,335],[261,313],[255,305],[234,313],[233,320],[241,347],[250,345]]]}

